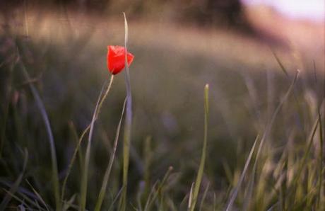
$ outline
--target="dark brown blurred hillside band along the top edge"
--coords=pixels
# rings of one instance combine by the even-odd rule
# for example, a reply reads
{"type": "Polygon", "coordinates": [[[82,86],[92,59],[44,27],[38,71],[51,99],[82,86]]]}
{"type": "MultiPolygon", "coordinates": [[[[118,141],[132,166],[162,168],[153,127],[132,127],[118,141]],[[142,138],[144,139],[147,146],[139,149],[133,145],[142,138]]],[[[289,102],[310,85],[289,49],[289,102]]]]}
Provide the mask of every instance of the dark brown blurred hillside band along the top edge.
{"type": "Polygon", "coordinates": [[[223,25],[231,28],[248,29],[240,0],[153,0],[153,1],[104,1],[104,0],[52,0],[52,1],[1,1],[3,12],[19,6],[29,8],[64,8],[100,16],[120,16],[124,11],[130,19],[164,19],[200,26],[223,25]]]}

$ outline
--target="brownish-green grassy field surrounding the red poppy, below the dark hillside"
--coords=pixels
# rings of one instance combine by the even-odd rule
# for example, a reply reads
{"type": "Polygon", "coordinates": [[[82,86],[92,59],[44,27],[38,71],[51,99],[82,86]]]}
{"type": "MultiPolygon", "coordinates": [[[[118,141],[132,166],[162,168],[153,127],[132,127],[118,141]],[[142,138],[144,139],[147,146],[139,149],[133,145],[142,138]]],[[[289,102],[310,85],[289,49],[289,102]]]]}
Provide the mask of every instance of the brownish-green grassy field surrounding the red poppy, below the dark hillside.
{"type": "Polygon", "coordinates": [[[88,133],[78,148],[110,80],[107,45],[124,45],[123,16],[18,11],[1,20],[0,210],[94,210],[101,188],[99,210],[325,209],[324,42],[128,23],[135,58],[123,200],[123,118],[116,154],[114,139],[124,72],[94,122],[91,149],[88,133]]]}

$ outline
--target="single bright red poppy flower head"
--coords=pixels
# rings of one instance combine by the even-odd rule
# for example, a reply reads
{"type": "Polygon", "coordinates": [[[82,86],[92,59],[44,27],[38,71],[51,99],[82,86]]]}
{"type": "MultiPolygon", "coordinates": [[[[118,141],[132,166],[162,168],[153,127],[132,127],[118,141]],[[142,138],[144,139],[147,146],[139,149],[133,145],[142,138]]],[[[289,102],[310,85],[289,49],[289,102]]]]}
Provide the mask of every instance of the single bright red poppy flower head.
{"type": "MultiPolygon", "coordinates": [[[[107,46],[107,68],[114,75],[121,72],[125,67],[125,47],[118,45],[107,46]]],[[[130,66],[134,59],[134,55],[127,52],[127,64],[130,66]]]]}

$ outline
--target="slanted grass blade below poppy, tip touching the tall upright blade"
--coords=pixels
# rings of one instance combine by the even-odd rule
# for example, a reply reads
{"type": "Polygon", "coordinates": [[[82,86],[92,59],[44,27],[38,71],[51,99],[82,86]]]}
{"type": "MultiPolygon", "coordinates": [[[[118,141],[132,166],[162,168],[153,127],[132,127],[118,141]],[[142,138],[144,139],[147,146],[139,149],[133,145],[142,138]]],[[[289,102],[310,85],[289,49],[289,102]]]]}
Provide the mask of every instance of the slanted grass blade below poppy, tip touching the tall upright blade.
{"type": "Polygon", "coordinates": [[[105,176],[104,176],[104,179],[102,181],[102,187],[100,188],[100,194],[98,195],[98,200],[97,200],[97,203],[95,205],[95,211],[100,211],[100,207],[102,207],[102,200],[104,199],[104,196],[105,196],[105,193],[106,193],[108,179],[110,178],[110,173],[112,171],[112,166],[113,166],[113,163],[114,163],[115,153],[117,151],[117,142],[119,140],[119,131],[121,130],[125,105],[126,105],[126,99],[125,99],[124,104],[123,104],[121,118],[119,118],[119,125],[117,125],[117,132],[116,132],[115,139],[114,139],[113,153],[112,153],[112,155],[110,157],[110,162],[109,162],[109,164],[107,166],[107,169],[105,171],[105,176]]]}

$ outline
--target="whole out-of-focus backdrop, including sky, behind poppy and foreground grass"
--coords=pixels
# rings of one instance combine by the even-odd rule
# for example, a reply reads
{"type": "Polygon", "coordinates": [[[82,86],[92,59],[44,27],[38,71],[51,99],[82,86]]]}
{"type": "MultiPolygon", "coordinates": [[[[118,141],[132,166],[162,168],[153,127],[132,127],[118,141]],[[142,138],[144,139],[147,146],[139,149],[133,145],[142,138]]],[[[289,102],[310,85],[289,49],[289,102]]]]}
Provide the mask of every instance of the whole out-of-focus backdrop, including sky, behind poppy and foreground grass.
{"type": "MultiPolygon", "coordinates": [[[[131,192],[136,193],[143,180],[144,143],[150,137],[150,180],[162,178],[174,166],[173,197],[182,202],[199,166],[203,87],[210,84],[203,184],[210,183],[215,193],[220,192],[218,200],[224,201],[226,187],[236,181],[235,173],[229,172],[242,169],[256,135],[264,131],[297,69],[299,103],[290,98],[284,105],[269,143],[281,149],[293,133],[297,139],[307,137],[314,108],[324,101],[324,8],[323,0],[1,1],[2,183],[19,173],[21,151],[27,148],[26,177],[36,188],[45,187],[42,194],[51,199],[46,191],[51,188],[47,135],[28,84],[37,87],[45,103],[62,177],[76,134],[90,123],[100,89],[109,79],[107,45],[124,45],[125,12],[128,47],[135,55],[130,67],[131,192]],[[30,81],[18,63],[27,69],[30,81]]],[[[92,181],[101,181],[112,152],[124,86],[124,73],[118,74],[96,125],[92,181]]],[[[121,147],[114,165],[114,191],[120,183],[121,147]]],[[[78,190],[77,167],[73,173],[68,194],[78,190]]],[[[90,203],[100,182],[92,188],[90,203]]]]}

